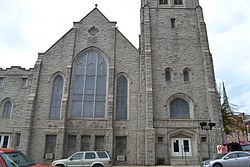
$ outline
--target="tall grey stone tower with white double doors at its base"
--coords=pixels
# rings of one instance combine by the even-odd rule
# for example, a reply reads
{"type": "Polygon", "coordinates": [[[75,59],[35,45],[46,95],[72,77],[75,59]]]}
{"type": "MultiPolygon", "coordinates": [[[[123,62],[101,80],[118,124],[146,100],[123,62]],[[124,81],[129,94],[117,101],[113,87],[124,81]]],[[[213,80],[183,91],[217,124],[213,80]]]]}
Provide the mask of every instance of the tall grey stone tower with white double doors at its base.
{"type": "Polygon", "coordinates": [[[140,17],[145,164],[198,164],[209,157],[201,120],[216,123],[211,150],[222,142],[214,137],[221,136],[222,118],[202,8],[198,0],[141,0],[140,17]],[[189,152],[182,162],[176,148],[184,140],[189,152]]]}

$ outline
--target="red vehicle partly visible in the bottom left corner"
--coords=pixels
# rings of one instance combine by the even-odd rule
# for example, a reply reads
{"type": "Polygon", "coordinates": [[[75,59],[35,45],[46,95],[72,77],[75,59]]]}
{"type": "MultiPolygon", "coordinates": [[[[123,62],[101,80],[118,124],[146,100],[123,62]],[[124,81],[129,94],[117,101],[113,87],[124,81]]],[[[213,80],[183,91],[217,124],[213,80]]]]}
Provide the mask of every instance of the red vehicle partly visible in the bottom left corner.
{"type": "Polygon", "coordinates": [[[49,165],[35,164],[21,151],[0,148],[0,167],[51,167],[49,165]]]}

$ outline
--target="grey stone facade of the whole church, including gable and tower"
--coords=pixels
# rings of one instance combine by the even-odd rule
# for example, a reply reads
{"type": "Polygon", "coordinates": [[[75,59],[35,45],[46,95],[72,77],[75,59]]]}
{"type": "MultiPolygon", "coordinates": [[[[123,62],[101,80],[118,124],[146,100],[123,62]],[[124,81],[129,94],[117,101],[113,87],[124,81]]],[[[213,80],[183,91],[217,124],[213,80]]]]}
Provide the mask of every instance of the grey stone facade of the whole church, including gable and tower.
{"type": "Polygon", "coordinates": [[[105,149],[117,164],[173,165],[207,158],[204,139],[209,138],[214,155],[222,121],[206,25],[198,0],[178,2],[141,1],[139,49],[96,7],[40,53],[34,68],[0,69],[1,146],[20,149],[40,163],[81,149],[105,149]],[[93,53],[107,67],[105,113],[86,117],[83,109],[74,117],[79,104],[74,99],[87,97],[87,90],[75,89],[78,61],[94,59],[93,53]],[[59,96],[53,93],[57,76],[63,80],[59,96]],[[119,76],[127,81],[121,96],[125,119],[118,113],[119,76]],[[54,97],[60,97],[60,116],[52,118],[54,97]],[[216,126],[206,136],[200,122],[209,121],[216,126]]]}

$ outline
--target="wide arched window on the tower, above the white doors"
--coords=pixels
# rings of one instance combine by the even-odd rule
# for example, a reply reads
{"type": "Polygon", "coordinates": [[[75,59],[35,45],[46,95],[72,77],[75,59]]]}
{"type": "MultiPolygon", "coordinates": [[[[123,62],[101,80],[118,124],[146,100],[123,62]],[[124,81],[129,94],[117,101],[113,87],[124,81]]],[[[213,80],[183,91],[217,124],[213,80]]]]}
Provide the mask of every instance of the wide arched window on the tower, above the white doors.
{"type": "Polygon", "coordinates": [[[187,101],[176,98],[170,102],[170,118],[173,119],[189,119],[190,111],[187,101]]]}

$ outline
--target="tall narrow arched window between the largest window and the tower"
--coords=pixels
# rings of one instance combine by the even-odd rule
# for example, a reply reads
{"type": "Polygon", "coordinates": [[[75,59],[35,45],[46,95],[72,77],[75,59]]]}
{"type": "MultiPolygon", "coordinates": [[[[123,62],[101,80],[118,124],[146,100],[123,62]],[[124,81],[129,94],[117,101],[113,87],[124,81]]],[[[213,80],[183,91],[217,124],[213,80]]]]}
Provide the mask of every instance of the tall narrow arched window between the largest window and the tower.
{"type": "Polygon", "coordinates": [[[116,80],[116,119],[126,120],[128,108],[128,80],[123,75],[116,80]]]}

